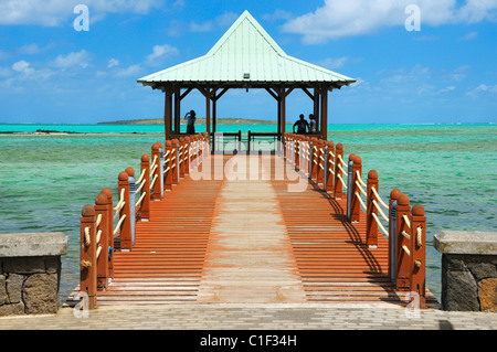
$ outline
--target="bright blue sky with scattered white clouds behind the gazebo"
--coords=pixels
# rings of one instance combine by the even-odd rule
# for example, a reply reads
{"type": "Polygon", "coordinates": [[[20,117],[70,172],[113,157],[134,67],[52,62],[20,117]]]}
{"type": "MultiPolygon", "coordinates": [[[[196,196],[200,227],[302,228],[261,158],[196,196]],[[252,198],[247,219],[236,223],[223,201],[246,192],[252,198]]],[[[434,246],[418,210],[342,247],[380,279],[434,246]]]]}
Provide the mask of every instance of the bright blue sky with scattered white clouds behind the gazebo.
{"type": "MultiPolygon", "coordinates": [[[[331,124],[497,121],[497,0],[0,0],[0,122],[161,118],[162,93],[136,79],[204,55],[244,10],[287,54],[358,81],[330,94],[331,124]]],[[[182,109],[203,116],[203,97],[182,109]]],[[[311,109],[292,93],[287,120],[311,109]]],[[[275,119],[276,104],[230,90],[218,116],[275,119]]]]}

